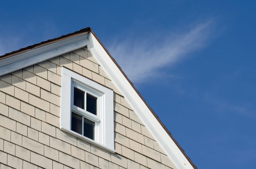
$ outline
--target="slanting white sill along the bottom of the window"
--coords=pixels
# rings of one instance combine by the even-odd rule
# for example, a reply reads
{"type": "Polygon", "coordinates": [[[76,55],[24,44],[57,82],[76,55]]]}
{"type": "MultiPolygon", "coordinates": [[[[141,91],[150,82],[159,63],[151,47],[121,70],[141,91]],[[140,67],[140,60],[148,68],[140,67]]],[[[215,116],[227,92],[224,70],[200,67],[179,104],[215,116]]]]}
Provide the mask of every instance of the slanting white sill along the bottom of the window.
{"type": "Polygon", "coordinates": [[[77,138],[79,138],[81,140],[84,140],[84,141],[86,141],[86,142],[88,142],[88,143],[90,143],[92,145],[100,147],[103,150],[106,150],[108,152],[111,152],[111,153],[115,153],[116,152],[115,150],[113,150],[113,149],[111,149],[111,148],[109,148],[109,147],[107,147],[105,145],[102,145],[102,144],[100,144],[100,143],[98,143],[98,142],[96,142],[96,141],[94,141],[94,140],[92,140],[90,138],[87,138],[87,137],[85,137],[83,135],[80,135],[80,134],[78,134],[78,133],[76,133],[76,132],[74,132],[74,131],[72,131],[70,129],[60,128],[60,130],[66,132],[66,133],[68,133],[68,134],[70,134],[72,136],[75,136],[75,137],[77,137],[77,138]]]}

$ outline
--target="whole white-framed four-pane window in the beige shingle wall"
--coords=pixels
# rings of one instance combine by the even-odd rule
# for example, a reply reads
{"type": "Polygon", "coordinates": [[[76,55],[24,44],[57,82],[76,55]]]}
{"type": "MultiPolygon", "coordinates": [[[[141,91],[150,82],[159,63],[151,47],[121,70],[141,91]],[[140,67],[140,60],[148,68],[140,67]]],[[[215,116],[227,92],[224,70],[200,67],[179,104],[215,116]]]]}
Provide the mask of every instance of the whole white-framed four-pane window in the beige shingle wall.
{"type": "Polygon", "coordinates": [[[60,130],[114,152],[113,90],[62,67],[60,130]]]}

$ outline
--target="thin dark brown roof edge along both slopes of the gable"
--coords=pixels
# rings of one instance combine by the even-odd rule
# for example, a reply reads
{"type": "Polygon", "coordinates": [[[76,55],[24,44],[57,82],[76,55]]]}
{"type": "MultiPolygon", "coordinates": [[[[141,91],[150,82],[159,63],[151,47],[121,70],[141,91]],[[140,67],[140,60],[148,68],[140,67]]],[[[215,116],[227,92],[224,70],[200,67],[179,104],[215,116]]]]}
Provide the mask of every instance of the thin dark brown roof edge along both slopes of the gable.
{"type": "Polygon", "coordinates": [[[104,48],[104,50],[107,52],[107,54],[109,55],[109,57],[113,60],[113,62],[116,64],[116,66],[120,69],[120,71],[123,73],[124,77],[128,80],[128,82],[132,85],[133,89],[137,92],[137,94],[140,96],[140,98],[143,100],[143,102],[146,104],[146,106],[148,107],[148,109],[151,111],[151,113],[155,116],[155,118],[157,119],[157,121],[159,121],[159,123],[162,125],[162,127],[164,128],[164,130],[168,133],[168,135],[171,137],[171,139],[173,140],[173,142],[177,145],[177,147],[180,149],[180,151],[183,153],[183,155],[188,159],[189,163],[195,168],[197,169],[196,165],[191,161],[191,159],[188,157],[188,155],[185,153],[185,151],[180,147],[179,143],[174,139],[174,137],[172,136],[172,134],[170,133],[170,131],[164,126],[163,122],[159,119],[159,117],[156,115],[156,113],[153,111],[153,109],[148,105],[148,103],[146,102],[146,100],[142,97],[142,95],[140,94],[140,92],[135,88],[135,86],[132,84],[132,82],[130,81],[130,79],[125,75],[124,71],[121,69],[121,67],[117,64],[116,60],[110,55],[110,53],[108,52],[108,50],[105,48],[105,46],[102,44],[102,42],[99,40],[99,38],[97,37],[97,35],[92,31],[92,29],[90,27],[86,27],[84,29],[81,29],[79,31],[73,32],[73,33],[68,33],[66,35],[62,35],[58,38],[54,38],[54,39],[50,39],[50,40],[46,40],[46,41],[42,41],[40,43],[25,47],[25,48],[21,48],[19,50],[15,50],[12,51],[10,53],[6,53],[2,56],[0,56],[0,60],[8,58],[8,57],[12,57],[14,55],[18,55],[20,53],[24,53],[27,52],[31,49],[35,49],[35,48],[39,48],[42,47],[44,45],[48,45],[60,40],[64,40],[82,33],[86,33],[86,32],[90,32],[92,33],[96,39],[99,41],[100,45],[104,48]]]}

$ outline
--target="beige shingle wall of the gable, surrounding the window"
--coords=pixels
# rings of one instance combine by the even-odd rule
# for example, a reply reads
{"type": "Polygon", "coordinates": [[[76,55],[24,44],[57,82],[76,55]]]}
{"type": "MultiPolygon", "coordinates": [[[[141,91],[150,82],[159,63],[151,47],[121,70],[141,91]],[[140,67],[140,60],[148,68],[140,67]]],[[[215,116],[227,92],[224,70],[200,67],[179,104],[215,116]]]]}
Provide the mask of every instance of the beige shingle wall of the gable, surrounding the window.
{"type": "Polygon", "coordinates": [[[175,168],[84,48],[0,77],[0,168],[175,168]],[[115,154],[59,130],[61,66],[114,90],[115,154]]]}

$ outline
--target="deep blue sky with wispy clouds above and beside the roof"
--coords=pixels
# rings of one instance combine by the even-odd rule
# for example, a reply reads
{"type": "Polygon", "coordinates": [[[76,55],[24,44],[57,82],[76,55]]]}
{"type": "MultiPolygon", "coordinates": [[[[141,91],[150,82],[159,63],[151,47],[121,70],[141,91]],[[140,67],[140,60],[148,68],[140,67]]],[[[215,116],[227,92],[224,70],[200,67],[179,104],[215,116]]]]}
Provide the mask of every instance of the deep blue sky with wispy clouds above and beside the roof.
{"type": "Polygon", "coordinates": [[[253,1],[3,1],[0,55],[90,26],[198,168],[256,160],[253,1]]]}

